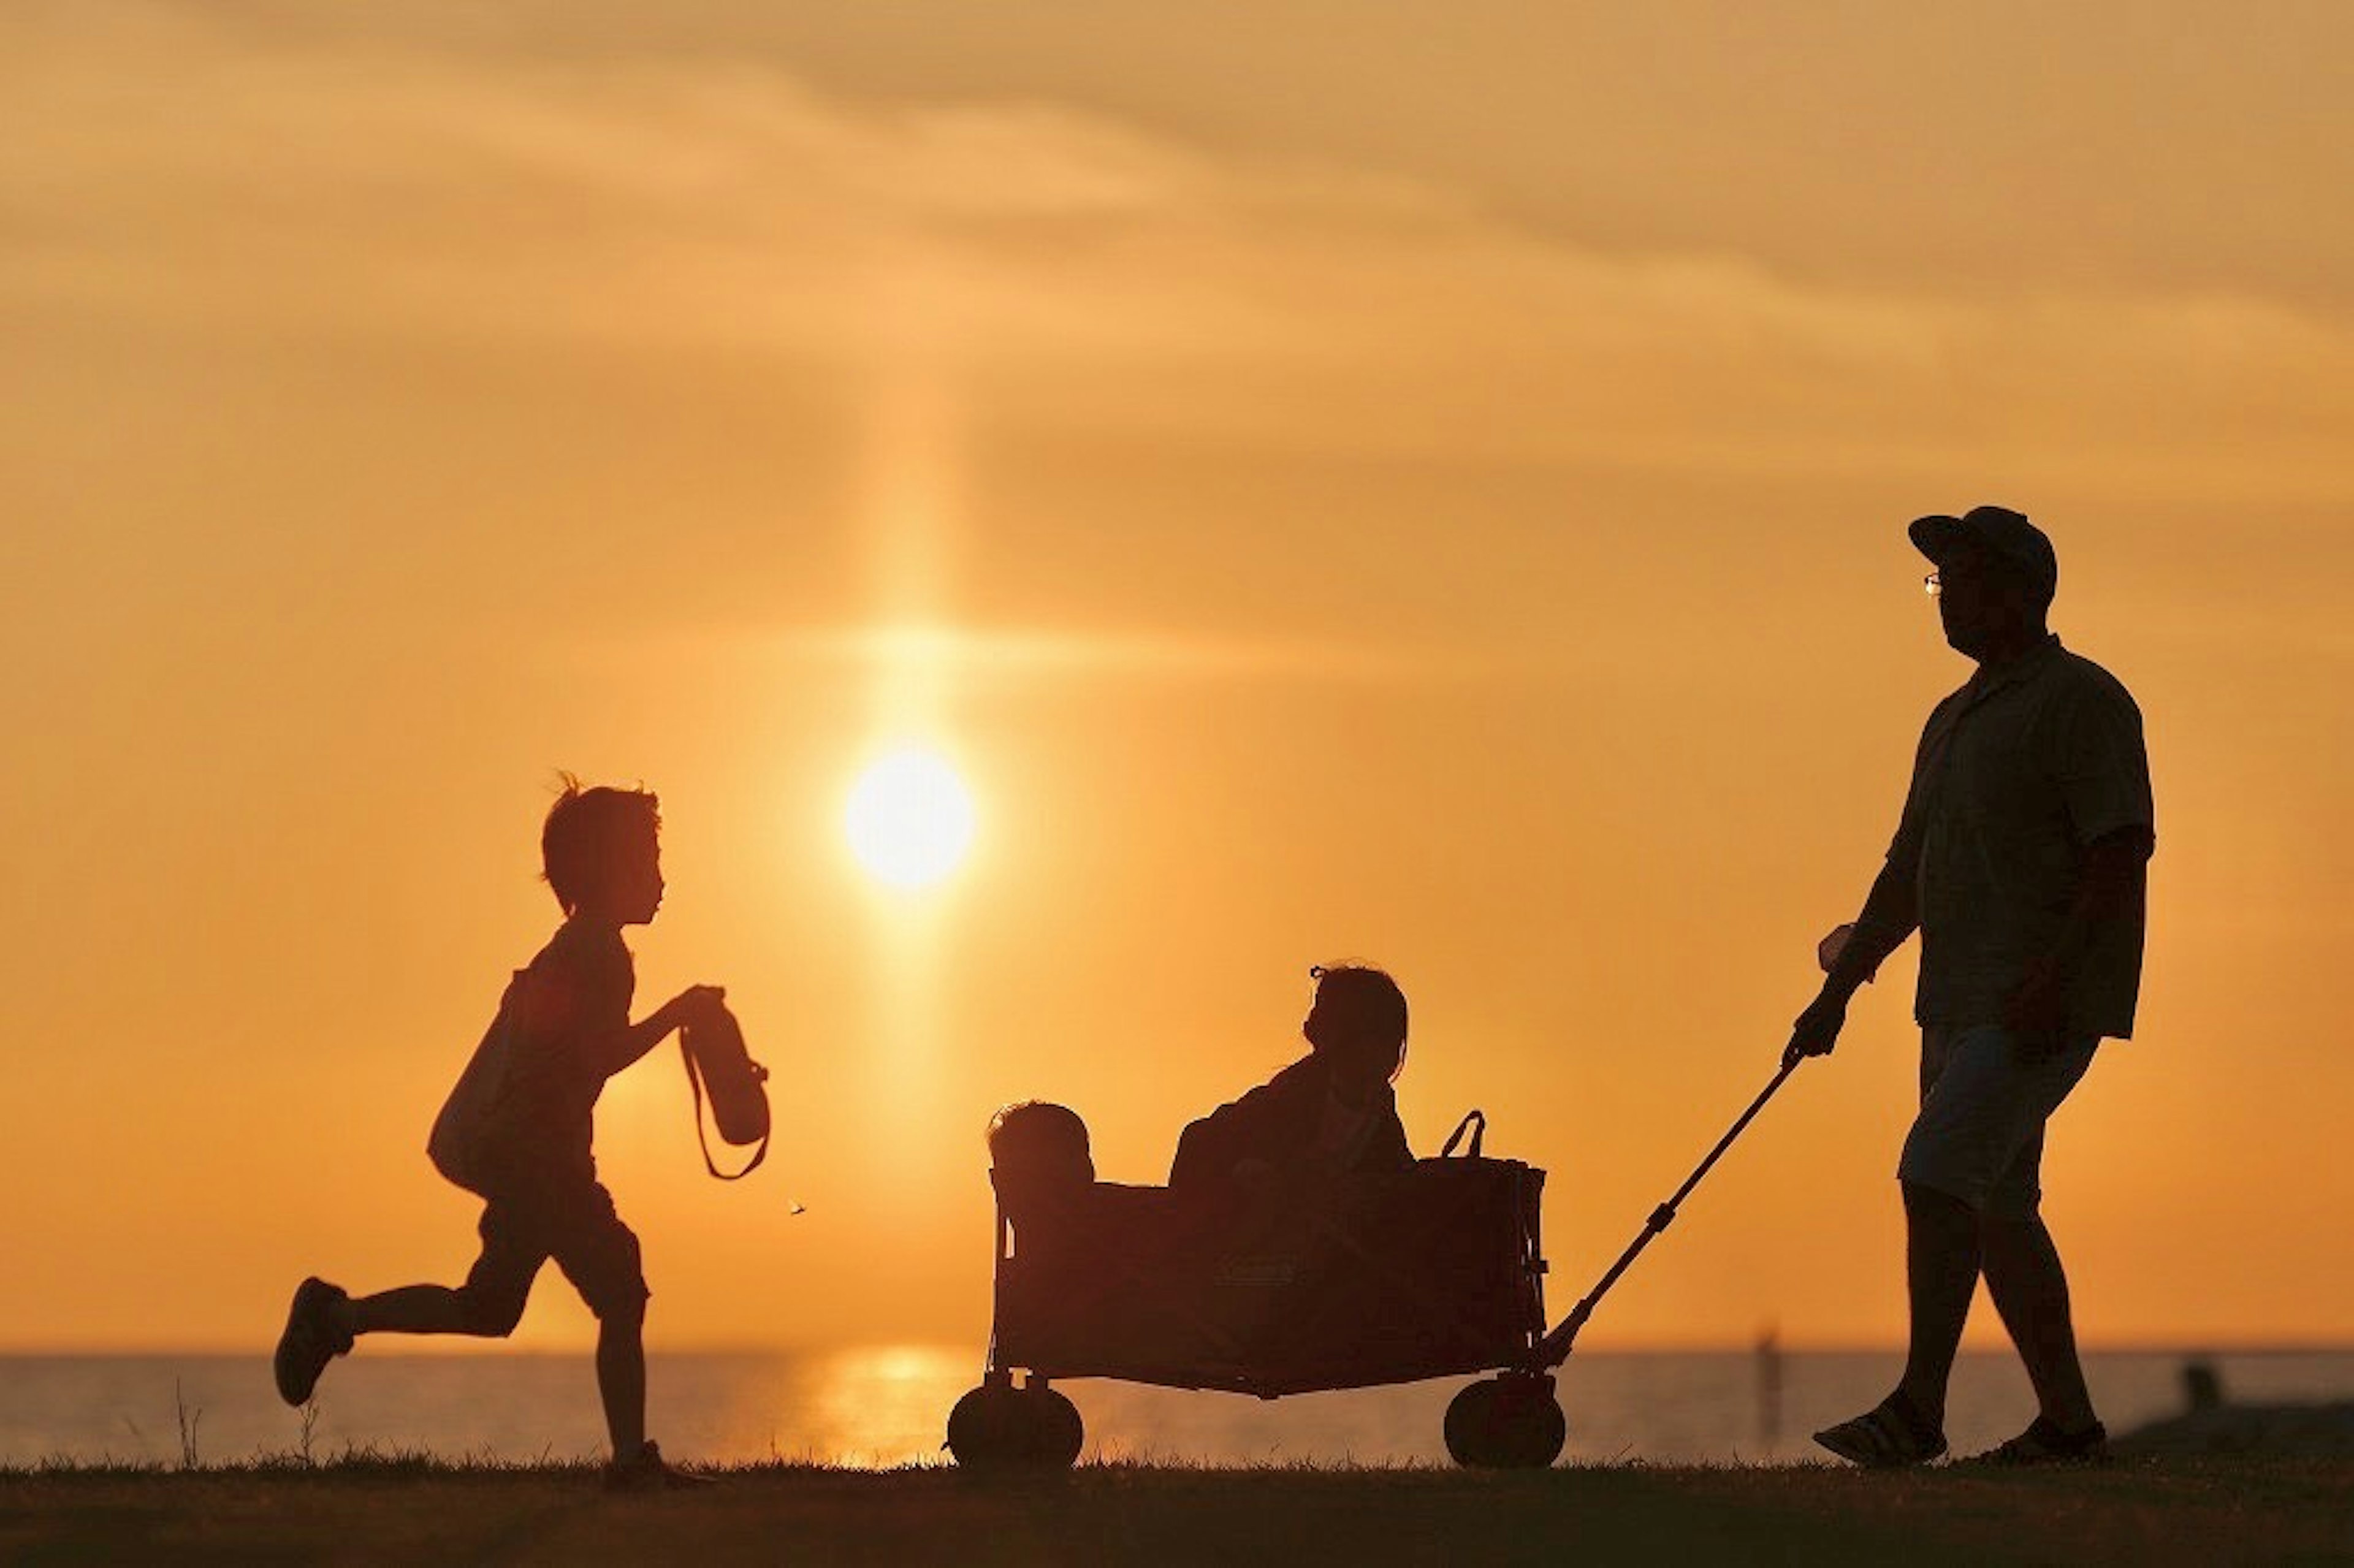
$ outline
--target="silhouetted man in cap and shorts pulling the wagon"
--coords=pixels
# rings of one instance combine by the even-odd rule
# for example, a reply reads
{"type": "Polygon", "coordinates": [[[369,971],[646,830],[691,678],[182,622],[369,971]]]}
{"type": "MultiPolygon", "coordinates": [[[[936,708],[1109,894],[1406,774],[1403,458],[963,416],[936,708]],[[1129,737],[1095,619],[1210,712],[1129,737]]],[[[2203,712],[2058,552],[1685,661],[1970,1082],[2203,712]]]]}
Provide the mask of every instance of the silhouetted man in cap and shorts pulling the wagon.
{"type": "Polygon", "coordinates": [[[1911,1347],[1876,1408],[1817,1431],[1857,1464],[1944,1453],[1944,1394],[1977,1278],[2041,1406],[1984,1457],[2093,1460],[2093,1413],[2067,1274],[2039,1212],[2043,1123],[2102,1038],[2133,1034],[2144,866],[2156,843],[2142,716],[2126,687],[2060,645],[2050,539],[1977,506],[1919,518],[1944,640],[1977,664],[1921,732],[1888,864],[1853,928],[1822,944],[1822,994],[1787,1059],[1838,1043],[1848,998],[1921,930],[1921,1111],[1904,1137],[1911,1347]]]}

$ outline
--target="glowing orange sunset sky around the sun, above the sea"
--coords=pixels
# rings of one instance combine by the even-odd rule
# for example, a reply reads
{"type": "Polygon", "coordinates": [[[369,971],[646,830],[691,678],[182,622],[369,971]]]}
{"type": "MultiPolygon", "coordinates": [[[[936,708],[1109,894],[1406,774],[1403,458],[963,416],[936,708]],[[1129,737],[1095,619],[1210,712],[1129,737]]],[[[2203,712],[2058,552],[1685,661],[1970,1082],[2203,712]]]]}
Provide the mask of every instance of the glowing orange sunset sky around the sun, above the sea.
{"type": "MultiPolygon", "coordinates": [[[[2349,104],[2295,2],[9,5],[0,1347],[464,1271],[560,768],[661,793],[640,1008],[777,1074],[742,1187],[673,1050],[605,1095],[657,1349],[979,1356],[991,1109],[1158,1180],[1346,956],[1558,1316],[1855,911],[1975,501],[2156,777],[2083,1337],[2354,1335],[2349,104]],[[840,829],[897,742],[923,892],[840,829]]],[[[1902,1333],[1911,975],[1584,1344],[1902,1333]]]]}

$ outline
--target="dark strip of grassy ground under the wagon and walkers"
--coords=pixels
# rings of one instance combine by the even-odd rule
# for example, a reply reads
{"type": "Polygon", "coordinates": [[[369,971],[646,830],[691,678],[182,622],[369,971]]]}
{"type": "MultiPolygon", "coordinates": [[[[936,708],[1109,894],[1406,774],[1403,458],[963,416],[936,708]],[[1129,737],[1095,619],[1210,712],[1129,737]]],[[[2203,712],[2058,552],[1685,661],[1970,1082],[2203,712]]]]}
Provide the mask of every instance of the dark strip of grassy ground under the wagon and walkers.
{"type": "Polygon", "coordinates": [[[2354,1462],[2079,1471],[1090,1464],[727,1471],[607,1495],[579,1467],[0,1471],[0,1563],[2354,1563],[2354,1462]]]}

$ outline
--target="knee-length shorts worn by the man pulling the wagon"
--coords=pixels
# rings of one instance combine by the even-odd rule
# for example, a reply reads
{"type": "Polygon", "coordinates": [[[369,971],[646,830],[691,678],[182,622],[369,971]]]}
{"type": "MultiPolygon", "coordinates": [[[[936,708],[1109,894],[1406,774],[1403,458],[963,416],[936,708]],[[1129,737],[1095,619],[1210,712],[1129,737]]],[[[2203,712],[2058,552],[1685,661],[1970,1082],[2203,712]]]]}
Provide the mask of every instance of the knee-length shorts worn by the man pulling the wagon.
{"type": "Polygon", "coordinates": [[[2034,1220],[2043,1123],[2093,1064],[2097,1036],[2022,1062],[2001,1024],[1921,1029],[1921,1114],[1897,1180],[1961,1198],[1989,1220],[2034,1220]]]}

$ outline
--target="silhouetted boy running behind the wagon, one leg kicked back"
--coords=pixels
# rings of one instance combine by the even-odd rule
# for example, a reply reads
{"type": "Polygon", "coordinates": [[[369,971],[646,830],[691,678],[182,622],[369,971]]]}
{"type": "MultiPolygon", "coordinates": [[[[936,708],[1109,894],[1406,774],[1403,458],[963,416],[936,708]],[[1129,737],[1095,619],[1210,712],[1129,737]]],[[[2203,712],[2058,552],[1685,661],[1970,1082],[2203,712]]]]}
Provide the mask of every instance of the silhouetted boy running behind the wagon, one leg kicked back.
{"type": "Polygon", "coordinates": [[[645,1271],[638,1238],[596,1180],[593,1114],[605,1081],[673,1029],[723,1008],[718,986],[690,986],[629,1022],[636,970],[624,925],[661,906],[661,815],[647,791],[565,791],[541,831],[546,883],[565,911],[532,965],[516,977],[497,1026],[511,1029],[476,1147],[483,1255],[459,1288],[403,1285],[348,1297],[320,1278],[294,1290],[278,1340],[278,1394],[308,1403],[320,1373],[355,1335],[506,1337],[523,1318],[539,1267],[556,1260],[598,1318],[596,1380],[612,1436],[614,1486],[685,1481],[645,1436],[645,1271]]]}

